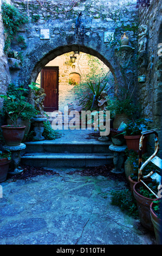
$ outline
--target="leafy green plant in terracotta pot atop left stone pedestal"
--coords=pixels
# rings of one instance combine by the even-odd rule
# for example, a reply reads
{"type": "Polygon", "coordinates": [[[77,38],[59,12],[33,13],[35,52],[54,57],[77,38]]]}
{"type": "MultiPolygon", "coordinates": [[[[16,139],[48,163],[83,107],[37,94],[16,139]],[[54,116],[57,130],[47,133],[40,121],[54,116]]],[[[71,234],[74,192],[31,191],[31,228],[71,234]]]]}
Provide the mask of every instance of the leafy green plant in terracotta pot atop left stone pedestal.
{"type": "Polygon", "coordinates": [[[20,118],[21,120],[30,120],[36,114],[36,109],[28,102],[29,90],[14,87],[11,84],[7,95],[0,95],[0,97],[4,99],[3,114],[7,114],[10,119],[8,125],[1,126],[5,143],[10,146],[20,145],[24,134],[27,133],[25,132],[26,126],[20,123],[20,118]],[[25,95],[27,93],[28,96],[25,95]]]}

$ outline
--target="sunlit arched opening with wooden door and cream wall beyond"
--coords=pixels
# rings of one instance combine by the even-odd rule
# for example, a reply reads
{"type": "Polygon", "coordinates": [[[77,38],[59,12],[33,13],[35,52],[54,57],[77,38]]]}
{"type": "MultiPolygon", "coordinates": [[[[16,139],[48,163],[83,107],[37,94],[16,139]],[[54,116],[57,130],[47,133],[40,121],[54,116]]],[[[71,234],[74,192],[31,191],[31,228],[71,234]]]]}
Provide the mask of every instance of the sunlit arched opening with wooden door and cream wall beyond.
{"type": "MultiPolygon", "coordinates": [[[[75,63],[72,63],[72,54],[73,52],[64,53],[50,60],[37,77],[36,83],[45,89],[47,95],[44,100],[46,112],[58,109],[63,112],[64,107],[69,105],[81,111],[78,90],[81,94],[86,94],[82,87],[89,79],[94,80],[98,76],[102,80],[109,72],[108,66],[95,56],[79,52],[76,54],[75,63]]],[[[111,72],[108,77],[113,77],[111,72]]]]}

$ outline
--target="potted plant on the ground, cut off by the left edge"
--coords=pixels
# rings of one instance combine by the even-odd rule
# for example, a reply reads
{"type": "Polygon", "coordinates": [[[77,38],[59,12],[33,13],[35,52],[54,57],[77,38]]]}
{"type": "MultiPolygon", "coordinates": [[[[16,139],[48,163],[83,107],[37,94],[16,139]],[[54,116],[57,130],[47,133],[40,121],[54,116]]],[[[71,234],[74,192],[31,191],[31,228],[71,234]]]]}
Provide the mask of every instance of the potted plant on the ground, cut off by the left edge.
{"type": "Polygon", "coordinates": [[[8,151],[0,151],[0,182],[6,180],[10,162],[11,153],[8,151]]]}

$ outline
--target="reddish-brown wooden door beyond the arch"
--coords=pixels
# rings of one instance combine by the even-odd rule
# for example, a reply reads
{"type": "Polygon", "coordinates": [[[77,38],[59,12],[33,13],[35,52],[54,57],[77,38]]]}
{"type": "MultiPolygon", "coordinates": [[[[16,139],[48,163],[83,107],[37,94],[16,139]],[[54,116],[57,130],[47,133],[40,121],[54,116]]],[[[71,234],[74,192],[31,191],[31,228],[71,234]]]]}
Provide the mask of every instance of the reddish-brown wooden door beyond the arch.
{"type": "Polygon", "coordinates": [[[44,88],[44,111],[59,109],[59,66],[45,66],[41,71],[41,87],[44,88]]]}

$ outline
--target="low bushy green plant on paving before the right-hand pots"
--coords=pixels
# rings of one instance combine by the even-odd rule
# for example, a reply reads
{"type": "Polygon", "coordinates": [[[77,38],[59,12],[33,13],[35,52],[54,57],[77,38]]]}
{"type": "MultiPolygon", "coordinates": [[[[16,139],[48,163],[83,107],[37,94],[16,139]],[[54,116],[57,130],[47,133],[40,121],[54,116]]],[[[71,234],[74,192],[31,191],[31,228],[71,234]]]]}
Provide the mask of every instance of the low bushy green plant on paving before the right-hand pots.
{"type": "Polygon", "coordinates": [[[135,198],[127,188],[124,190],[113,190],[111,192],[111,203],[117,205],[122,211],[126,211],[128,216],[138,217],[138,208],[135,198]]]}

